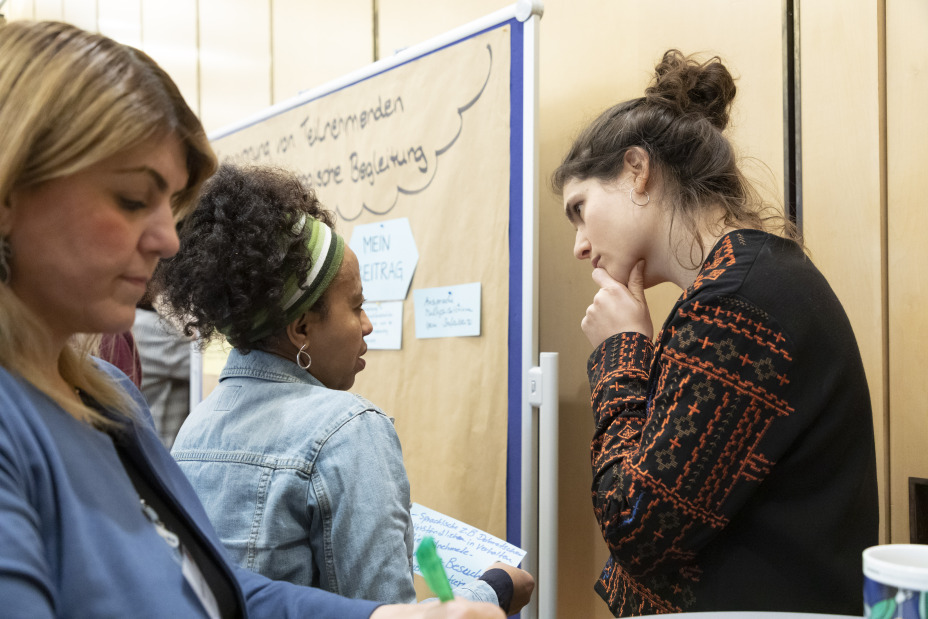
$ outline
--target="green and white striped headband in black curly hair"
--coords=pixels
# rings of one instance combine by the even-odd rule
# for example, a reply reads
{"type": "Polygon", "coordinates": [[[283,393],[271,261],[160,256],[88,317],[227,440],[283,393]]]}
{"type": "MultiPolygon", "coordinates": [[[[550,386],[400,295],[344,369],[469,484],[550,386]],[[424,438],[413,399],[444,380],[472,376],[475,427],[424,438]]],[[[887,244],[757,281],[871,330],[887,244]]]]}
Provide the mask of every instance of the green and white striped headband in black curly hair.
{"type": "MultiPolygon", "coordinates": [[[[306,215],[294,226],[295,233],[299,233],[306,226],[306,215]]],[[[309,218],[312,229],[306,248],[310,254],[310,269],[302,280],[294,275],[284,285],[283,310],[284,324],[290,324],[307,310],[309,310],[322,297],[325,291],[338,274],[345,257],[345,239],[332,231],[318,219],[309,218]]],[[[255,317],[255,322],[248,334],[248,342],[257,342],[264,339],[276,328],[267,323],[267,312],[261,311],[255,317]]]]}

